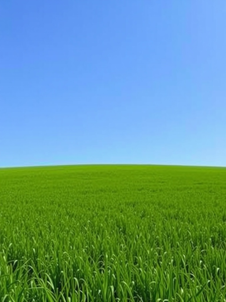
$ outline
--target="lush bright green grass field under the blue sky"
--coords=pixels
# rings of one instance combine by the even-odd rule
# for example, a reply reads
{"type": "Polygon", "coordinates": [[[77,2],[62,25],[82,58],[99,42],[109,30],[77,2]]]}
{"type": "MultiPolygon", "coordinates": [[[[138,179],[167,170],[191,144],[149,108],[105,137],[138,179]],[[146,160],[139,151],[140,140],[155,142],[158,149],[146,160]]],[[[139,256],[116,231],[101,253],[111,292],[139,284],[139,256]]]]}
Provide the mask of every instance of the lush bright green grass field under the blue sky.
{"type": "Polygon", "coordinates": [[[226,301],[226,169],[0,169],[0,301],[226,301]]]}

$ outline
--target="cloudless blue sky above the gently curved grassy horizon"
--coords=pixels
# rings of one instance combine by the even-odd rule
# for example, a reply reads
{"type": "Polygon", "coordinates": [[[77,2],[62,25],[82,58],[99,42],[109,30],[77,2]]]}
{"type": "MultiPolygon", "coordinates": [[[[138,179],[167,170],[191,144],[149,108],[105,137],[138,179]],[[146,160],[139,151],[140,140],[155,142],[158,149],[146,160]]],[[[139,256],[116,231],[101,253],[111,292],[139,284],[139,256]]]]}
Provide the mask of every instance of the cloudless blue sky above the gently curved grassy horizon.
{"type": "Polygon", "coordinates": [[[225,0],[7,0],[0,166],[226,166],[225,0]]]}

